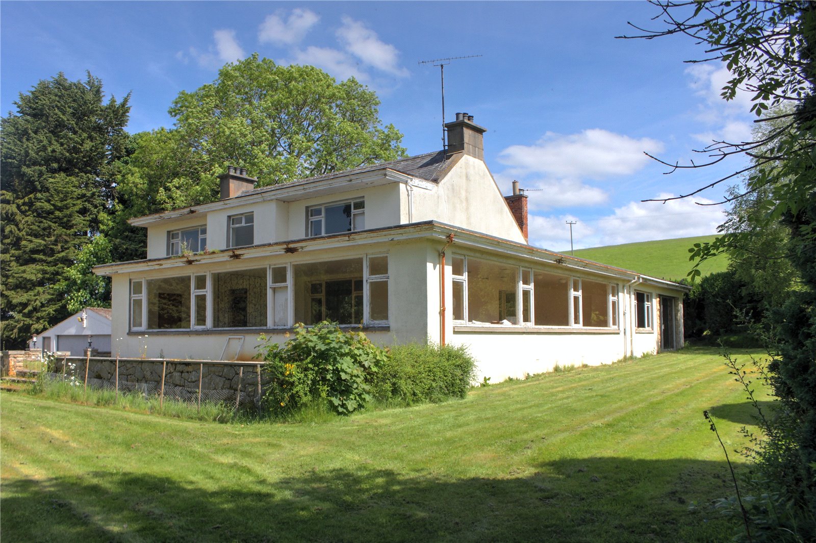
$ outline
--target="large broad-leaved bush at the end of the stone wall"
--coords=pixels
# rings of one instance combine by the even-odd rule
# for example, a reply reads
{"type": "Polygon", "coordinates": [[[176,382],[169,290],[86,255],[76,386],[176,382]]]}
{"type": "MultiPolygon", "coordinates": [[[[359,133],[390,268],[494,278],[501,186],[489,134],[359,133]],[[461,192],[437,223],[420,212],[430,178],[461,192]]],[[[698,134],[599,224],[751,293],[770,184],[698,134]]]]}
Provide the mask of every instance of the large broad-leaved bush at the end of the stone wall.
{"type": "Polygon", "coordinates": [[[272,377],[264,402],[273,415],[313,403],[327,403],[342,415],[370,401],[372,375],[388,360],[362,332],[344,332],[335,323],[311,328],[295,324],[295,337],[283,347],[265,342],[259,356],[272,377]]]}

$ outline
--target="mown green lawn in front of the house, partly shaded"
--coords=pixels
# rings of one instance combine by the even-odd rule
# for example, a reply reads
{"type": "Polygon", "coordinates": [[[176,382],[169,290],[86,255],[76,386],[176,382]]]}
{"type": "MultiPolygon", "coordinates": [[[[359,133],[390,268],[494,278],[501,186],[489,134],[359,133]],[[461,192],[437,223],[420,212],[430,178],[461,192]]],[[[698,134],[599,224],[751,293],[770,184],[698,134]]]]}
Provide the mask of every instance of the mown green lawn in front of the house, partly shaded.
{"type": "Polygon", "coordinates": [[[730,449],[752,422],[710,349],[322,424],[0,407],[3,543],[725,541],[689,510],[734,490],[702,412],[730,449]]]}

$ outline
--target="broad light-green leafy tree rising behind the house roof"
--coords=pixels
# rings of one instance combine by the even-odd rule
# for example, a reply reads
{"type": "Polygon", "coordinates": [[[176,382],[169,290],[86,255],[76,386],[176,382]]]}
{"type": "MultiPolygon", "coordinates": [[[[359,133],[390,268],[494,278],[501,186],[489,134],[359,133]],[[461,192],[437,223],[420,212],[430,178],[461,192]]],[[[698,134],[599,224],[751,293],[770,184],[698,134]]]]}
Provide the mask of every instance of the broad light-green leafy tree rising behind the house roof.
{"type": "Polygon", "coordinates": [[[227,64],[211,84],[179,94],[173,130],[135,136],[120,219],[213,201],[227,166],[265,186],[404,156],[402,135],[381,127],[378,107],[353,78],[338,83],[313,66],[258,55],[227,64]]]}

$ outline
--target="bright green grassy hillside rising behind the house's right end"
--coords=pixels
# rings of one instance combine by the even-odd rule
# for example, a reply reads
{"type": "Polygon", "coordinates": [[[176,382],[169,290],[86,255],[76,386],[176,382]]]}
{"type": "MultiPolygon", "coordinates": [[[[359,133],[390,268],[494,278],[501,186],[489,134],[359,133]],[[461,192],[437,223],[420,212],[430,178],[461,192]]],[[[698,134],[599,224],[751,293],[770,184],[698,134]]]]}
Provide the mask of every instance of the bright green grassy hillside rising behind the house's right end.
{"type": "MultiPolygon", "coordinates": [[[[595,262],[624,267],[660,279],[681,280],[694,263],[689,261],[689,248],[694,243],[713,241],[716,236],[680,237],[674,240],[641,241],[623,245],[607,245],[578,249],[575,256],[595,262]]],[[[569,251],[566,251],[569,254],[569,251]]],[[[703,276],[724,272],[728,257],[720,255],[700,265],[703,276]]]]}

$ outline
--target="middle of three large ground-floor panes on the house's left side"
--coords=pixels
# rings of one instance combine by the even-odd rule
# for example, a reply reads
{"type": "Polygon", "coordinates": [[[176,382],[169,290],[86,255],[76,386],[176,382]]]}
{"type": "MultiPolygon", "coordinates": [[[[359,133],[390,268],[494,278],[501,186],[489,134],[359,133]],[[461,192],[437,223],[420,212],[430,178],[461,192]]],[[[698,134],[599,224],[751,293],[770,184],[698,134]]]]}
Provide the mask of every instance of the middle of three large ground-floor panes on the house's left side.
{"type": "Polygon", "coordinates": [[[211,278],[214,328],[267,325],[267,268],[213,273],[211,278]]]}

